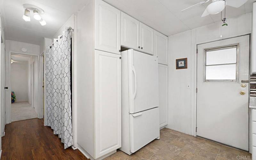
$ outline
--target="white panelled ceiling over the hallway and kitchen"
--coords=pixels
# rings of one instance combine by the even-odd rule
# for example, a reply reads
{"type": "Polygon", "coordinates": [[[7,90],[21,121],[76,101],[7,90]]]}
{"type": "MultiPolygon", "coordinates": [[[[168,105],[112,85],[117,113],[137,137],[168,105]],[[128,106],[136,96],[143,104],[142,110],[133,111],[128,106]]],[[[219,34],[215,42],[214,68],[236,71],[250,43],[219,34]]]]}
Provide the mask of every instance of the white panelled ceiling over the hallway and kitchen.
{"type": "MultiPolygon", "coordinates": [[[[52,38],[73,13],[78,12],[89,0],[0,0],[0,11],[5,26],[5,39],[40,45],[43,37],[52,38]],[[45,13],[45,26],[33,18],[25,22],[23,4],[34,4],[45,13]]],[[[206,6],[199,5],[180,12],[200,0],[104,0],[148,26],[170,36],[189,29],[220,21],[220,13],[201,18],[206,6]]],[[[227,6],[227,18],[252,12],[252,2],[239,8],[227,6]]]]}

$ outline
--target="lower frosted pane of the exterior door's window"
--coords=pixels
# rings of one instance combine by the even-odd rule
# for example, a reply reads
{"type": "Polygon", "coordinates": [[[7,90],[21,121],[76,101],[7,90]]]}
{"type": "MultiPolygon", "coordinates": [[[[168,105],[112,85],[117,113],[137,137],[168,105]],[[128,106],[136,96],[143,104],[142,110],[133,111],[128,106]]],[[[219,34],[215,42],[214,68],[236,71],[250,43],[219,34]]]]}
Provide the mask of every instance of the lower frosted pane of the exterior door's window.
{"type": "Polygon", "coordinates": [[[236,80],[236,64],[206,66],[206,80],[236,80]]]}

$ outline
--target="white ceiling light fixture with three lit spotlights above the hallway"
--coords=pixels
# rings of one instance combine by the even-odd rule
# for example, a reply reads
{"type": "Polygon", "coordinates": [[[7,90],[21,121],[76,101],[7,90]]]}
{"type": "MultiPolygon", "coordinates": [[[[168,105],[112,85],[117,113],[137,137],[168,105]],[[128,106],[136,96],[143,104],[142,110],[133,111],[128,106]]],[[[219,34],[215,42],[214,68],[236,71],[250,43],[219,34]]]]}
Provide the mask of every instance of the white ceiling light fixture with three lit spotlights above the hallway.
{"type": "Polygon", "coordinates": [[[42,19],[42,14],[44,14],[44,10],[40,7],[37,7],[33,4],[23,4],[23,8],[25,9],[23,20],[30,21],[30,11],[33,11],[33,17],[35,20],[38,20],[39,23],[44,26],[46,25],[46,21],[42,19]]]}

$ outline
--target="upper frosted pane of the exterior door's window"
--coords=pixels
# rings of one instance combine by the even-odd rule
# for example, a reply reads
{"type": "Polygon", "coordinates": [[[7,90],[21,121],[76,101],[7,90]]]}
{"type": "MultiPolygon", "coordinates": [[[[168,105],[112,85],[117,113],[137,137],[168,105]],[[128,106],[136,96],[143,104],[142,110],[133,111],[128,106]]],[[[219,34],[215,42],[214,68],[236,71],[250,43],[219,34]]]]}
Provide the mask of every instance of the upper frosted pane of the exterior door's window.
{"type": "Polygon", "coordinates": [[[206,52],[206,65],[236,63],[236,47],[206,52]]]}

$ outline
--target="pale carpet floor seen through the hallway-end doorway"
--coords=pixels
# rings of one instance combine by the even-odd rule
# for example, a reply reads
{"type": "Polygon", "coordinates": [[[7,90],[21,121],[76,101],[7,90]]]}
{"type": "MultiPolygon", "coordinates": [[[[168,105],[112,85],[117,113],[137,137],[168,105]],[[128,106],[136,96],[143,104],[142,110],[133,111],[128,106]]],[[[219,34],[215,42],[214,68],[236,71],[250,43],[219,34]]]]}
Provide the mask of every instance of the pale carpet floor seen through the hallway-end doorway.
{"type": "Polygon", "coordinates": [[[14,102],[12,103],[11,111],[12,122],[26,119],[37,118],[34,108],[28,102],[14,102]]]}

